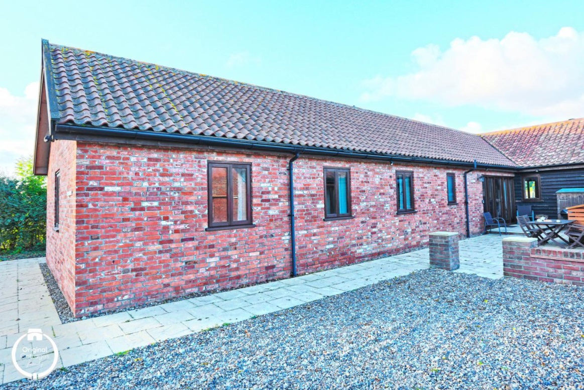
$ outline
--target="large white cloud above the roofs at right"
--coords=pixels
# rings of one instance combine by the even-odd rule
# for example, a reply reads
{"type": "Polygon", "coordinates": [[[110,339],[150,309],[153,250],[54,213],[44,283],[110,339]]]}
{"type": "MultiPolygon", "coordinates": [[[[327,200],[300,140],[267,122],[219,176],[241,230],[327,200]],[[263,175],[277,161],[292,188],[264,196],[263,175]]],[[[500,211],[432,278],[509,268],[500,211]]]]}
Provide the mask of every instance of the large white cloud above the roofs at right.
{"type": "Polygon", "coordinates": [[[361,100],[395,96],[447,106],[474,105],[566,119],[584,116],[584,33],[564,27],[535,39],[510,32],[503,39],[454,39],[412,52],[417,71],[363,81],[361,100]]]}

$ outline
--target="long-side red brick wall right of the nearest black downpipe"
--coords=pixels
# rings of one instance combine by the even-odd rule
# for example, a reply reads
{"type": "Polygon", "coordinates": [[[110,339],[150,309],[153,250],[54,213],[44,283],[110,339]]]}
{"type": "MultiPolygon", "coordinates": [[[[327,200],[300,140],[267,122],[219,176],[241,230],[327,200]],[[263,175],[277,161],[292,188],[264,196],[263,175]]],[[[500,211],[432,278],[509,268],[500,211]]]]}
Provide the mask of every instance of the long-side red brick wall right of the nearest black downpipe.
{"type": "MultiPolygon", "coordinates": [[[[426,246],[433,231],[466,235],[465,169],[393,166],[386,162],[300,158],[294,163],[299,271],[315,271],[426,246]],[[324,221],[323,170],[350,168],[354,217],[324,221]],[[397,214],[395,171],[414,172],[416,213],[397,214]],[[447,201],[446,173],[455,173],[457,204],[447,201]]],[[[477,171],[468,175],[471,234],[484,229],[482,183],[477,171]],[[478,211],[478,215],[477,214],[478,211]]],[[[490,172],[490,174],[493,174],[490,172]]]]}

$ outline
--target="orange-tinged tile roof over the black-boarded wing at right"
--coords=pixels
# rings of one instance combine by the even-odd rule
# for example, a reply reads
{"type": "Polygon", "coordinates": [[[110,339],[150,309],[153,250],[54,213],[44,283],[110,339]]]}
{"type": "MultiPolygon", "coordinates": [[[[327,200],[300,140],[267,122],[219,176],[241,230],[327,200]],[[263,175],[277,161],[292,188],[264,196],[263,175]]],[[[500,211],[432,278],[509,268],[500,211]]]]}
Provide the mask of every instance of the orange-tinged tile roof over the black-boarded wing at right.
{"type": "Polygon", "coordinates": [[[494,131],[481,137],[522,167],[584,162],[584,118],[494,131]]]}

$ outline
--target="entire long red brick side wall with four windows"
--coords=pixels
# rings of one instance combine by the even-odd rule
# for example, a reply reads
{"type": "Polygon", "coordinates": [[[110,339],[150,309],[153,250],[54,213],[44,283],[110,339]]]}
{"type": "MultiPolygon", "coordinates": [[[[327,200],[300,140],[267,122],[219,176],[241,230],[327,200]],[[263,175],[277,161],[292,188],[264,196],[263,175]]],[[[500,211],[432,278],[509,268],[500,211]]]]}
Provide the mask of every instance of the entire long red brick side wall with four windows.
{"type": "MultiPolygon", "coordinates": [[[[288,159],[78,142],[77,271],[60,281],[75,287],[74,298],[65,294],[75,314],[288,277],[288,159]],[[252,163],[255,228],[206,231],[208,161],[252,163]]],[[[418,248],[431,231],[465,234],[464,169],[302,156],[294,172],[299,273],[418,248]],[[324,166],[350,168],[355,218],[323,220],[324,166]],[[417,213],[396,214],[395,170],[415,172],[417,213]],[[455,205],[447,172],[456,173],[455,205]]],[[[469,175],[473,234],[482,231],[481,173],[469,175]]]]}

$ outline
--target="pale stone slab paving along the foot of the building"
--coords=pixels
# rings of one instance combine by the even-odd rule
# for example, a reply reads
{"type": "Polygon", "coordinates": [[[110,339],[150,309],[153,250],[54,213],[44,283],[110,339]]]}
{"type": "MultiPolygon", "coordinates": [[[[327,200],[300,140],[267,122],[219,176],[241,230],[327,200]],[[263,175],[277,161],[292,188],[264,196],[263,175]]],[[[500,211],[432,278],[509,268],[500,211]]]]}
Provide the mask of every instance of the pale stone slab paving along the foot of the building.
{"type": "MultiPolygon", "coordinates": [[[[59,349],[58,367],[68,367],[426,269],[430,266],[428,256],[429,249],[420,249],[66,324],[60,322],[40,272],[39,262],[43,262],[43,258],[0,262],[0,384],[22,378],[12,364],[11,349],[29,328],[40,328],[53,337],[59,349]]],[[[460,269],[456,272],[502,277],[502,238],[484,235],[461,241],[460,269]]]]}

